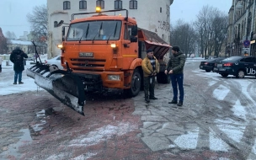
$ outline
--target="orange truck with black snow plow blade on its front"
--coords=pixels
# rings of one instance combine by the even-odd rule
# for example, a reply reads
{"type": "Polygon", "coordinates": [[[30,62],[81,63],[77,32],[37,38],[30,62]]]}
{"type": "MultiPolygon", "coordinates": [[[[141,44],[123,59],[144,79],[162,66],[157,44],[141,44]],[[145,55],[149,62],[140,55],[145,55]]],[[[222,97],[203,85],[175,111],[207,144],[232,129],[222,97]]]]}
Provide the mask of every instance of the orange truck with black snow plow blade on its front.
{"type": "Polygon", "coordinates": [[[149,48],[161,66],[157,82],[169,83],[163,56],[171,46],[155,33],[137,28],[136,19],[129,18],[126,9],[73,13],[66,27],[62,27],[62,44],[58,45],[64,69],[37,61],[27,69],[27,76],[79,114],[84,115],[86,92],[118,88],[130,97],[136,96],[143,84],[141,61],[149,48]],[[120,11],[126,16],[104,14],[120,11]],[[83,14],[93,16],[75,19],[83,14]]]}

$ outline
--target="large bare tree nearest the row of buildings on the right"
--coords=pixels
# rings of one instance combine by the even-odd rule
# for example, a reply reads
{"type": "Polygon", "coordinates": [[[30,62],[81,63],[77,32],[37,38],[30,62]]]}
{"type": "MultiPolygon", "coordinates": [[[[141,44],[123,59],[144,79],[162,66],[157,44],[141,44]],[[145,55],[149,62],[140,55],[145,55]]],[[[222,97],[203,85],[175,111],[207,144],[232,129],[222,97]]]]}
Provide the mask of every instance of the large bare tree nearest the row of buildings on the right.
{"type": "Polygon", "coordinates": [[[221,45],[227,34],[227,14],[221,13],[218,8],[204,6],[197,15],[195,30],[200,38],[200,53],[204,57],[219,56],[221,45]]]}

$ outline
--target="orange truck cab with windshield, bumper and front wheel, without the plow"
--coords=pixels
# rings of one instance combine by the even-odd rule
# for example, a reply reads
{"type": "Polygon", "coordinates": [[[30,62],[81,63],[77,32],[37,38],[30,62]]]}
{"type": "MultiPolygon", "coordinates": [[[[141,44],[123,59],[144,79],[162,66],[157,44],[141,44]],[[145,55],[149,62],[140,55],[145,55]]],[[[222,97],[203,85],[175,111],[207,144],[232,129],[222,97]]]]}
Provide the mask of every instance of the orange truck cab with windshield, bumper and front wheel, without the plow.
{"type": "Polygon", "coordinates": [[[120,88],[136,96],[142,84],[142,50],[147,43],[140,45],[138,39],[143,36],[138,35],[136,19],[129,18],[127,10],[126,17],[103,13],[82,19],[72,15],[66,35],[62,28],[61,64],[81,75],[85,90],[120,88]]]}

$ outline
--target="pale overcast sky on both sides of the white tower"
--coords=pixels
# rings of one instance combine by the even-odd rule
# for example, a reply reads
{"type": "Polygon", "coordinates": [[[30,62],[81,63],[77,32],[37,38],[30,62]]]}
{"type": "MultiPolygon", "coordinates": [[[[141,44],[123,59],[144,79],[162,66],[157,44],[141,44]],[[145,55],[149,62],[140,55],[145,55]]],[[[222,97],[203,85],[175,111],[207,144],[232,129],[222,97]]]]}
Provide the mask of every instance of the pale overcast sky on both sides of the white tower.
{"type": "MultiPolygon", "coordinates": [[[[46,3],[47,0],[0,0],[0,27],[3,34],[11,31],[19,38],[24,31],[29,32],[30,26],[26,15],[32,13],[35,6],[46,3]]],[[[174,0],[170,7],[171,23],[178,19],[184,19],[185,22],[195,20],[200,9],[207,4],[228,13],[232,0],[174,0]]]]}

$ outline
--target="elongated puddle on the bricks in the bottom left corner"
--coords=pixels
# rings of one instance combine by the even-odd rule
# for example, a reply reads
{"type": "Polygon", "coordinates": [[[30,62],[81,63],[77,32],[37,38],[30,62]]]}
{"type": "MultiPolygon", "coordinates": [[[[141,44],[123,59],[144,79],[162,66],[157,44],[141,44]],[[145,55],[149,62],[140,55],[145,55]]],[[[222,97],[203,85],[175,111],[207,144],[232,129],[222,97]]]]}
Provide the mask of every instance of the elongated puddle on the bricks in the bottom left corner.
{"type": "Polygon", "coordinates": [[[33,141],[30,136],[29,129],[21,129],[19,132],[24,132],[24,135],[19,137],[20,139],[17,143],[9,145],[7,151],[4,151],[0,154],[1,159],[10,159],[10,157],[12,157],[12,159],[14,157],[14,159],[19,159],[19,147],[29,145],[29,143],[33,141]]]}

